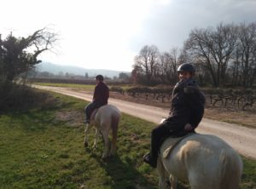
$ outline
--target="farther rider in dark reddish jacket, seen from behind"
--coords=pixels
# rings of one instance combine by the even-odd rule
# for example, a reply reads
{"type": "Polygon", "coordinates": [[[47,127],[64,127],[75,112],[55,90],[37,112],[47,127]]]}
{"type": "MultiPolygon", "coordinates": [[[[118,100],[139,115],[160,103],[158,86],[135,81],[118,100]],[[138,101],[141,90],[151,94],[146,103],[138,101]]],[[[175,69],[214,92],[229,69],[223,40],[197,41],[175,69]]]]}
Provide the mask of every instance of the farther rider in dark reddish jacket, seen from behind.
{"type": "Polygon", "coordinates": [[[108,104],[109,89],[108,86],[103,83],[104,77],[102,75],[97,75],[95,78],[96,87],[93,94],[93,100],[84,108],[86,115],[85,123],[90,123],[90,115],[96,108],[108,104]]]}

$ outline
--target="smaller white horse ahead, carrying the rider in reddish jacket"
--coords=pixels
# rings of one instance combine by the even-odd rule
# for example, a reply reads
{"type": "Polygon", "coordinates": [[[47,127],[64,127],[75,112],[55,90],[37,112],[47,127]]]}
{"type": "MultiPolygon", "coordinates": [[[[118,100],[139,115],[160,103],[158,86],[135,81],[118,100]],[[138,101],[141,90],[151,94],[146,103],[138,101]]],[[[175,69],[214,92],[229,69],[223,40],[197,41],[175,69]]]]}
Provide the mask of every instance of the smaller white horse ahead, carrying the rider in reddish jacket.
{"type": "Polygon", "coordinates": [[[95,126],[96,134],[93,148],[96,148],[97,139],[101,132],[102,138],[104,140],[104,152],[102,154],[102,158],[113,156],[116,152],[116,142],[120,117],[121,112],[119,112],[119,109],[112,105],[101,106],[92,112],[90,116],[90,124],[86,124],[86,128],[84,130],[84,146],[88,146],[87,135],[90,127],[95,126]],[[110,129],[112,129],[112,142],[111,150],[109,152],[108,134],[110,129]]]}

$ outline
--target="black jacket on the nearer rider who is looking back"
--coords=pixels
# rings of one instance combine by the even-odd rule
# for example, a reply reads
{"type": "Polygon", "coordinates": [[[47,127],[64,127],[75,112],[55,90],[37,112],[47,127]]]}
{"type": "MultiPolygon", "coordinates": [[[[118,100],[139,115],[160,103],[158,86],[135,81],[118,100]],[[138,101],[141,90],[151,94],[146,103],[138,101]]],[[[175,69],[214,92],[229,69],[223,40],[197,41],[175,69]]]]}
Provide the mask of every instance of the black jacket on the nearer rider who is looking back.
{"type": "Polygon", "coordinates": [[[166,127],[183,131],[186,123],[196,128],[204,114],[205,96],[193,79],[178,82],[172,92],[172,108],[166,119],[166,127]]]}

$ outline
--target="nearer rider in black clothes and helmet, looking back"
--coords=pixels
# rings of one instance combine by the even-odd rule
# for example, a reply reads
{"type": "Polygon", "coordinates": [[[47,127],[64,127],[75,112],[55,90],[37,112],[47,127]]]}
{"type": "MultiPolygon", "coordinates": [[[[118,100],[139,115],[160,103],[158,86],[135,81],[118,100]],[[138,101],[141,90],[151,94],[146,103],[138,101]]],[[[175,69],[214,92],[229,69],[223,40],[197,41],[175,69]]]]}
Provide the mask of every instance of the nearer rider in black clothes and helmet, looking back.
{"type": "Polygon", "coordinates": [[[169,136],[183,136],[195,132],[204,113],[205,97],[193,76],[195,68],[184,63],[177,68],[179,82],[172,91],[172,107],[169,117],[151,132],[151,152],[143,161],[153,168],[157,165],[158,153],[164,139],[169,136]]]}

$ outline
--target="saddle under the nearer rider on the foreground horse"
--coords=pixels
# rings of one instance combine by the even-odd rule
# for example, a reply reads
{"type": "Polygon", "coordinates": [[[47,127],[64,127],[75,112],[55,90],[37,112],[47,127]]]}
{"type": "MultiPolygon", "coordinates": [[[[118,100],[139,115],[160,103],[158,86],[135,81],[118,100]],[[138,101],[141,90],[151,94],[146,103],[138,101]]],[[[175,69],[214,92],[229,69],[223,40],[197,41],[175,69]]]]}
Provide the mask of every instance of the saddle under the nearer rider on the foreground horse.
{"type": "Polygon", "coordinates": [[[195,135],[195,133],[189,133],[187,135],[175,138],[168,137],[161,146],[161,148],[164,149],[162,152],[162,157],[168,158],[174,147],[177,146],[184,138],[188,137],[189,135],[195,135]]]}

